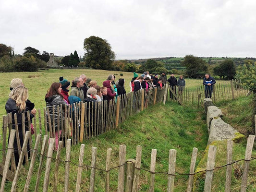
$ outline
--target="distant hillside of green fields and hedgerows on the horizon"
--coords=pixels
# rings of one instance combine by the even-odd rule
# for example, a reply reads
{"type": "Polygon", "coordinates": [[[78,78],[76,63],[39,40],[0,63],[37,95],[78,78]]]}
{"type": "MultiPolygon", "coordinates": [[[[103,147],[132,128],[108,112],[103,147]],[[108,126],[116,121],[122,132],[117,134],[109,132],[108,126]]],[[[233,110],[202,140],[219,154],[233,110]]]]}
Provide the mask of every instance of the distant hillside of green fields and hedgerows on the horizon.
{"type": "MultiPolygon", "coordinates": [[[[253,62],[256,61],[256,58],[228,58],[228,57],[200,57],[201,59],[205,60],[209,65],[219,64],[219,62],[223,60],[233,60],[236,66],[243,65],[244,60],[252,60],[253,62]]],[[[164,58],[149,58],[150,60],[161,61],[165,63],[165,68],[168,70],[177,69],[183,70],[185,69],[182,66],[181,62],[184,60],[183,57],[164,57],[164,58]]],[[[128,62],[133,62],[135,64],[142,64],[145,63],[149,59],[139,59],[139,60],[128,60],[128,62]]]]}

